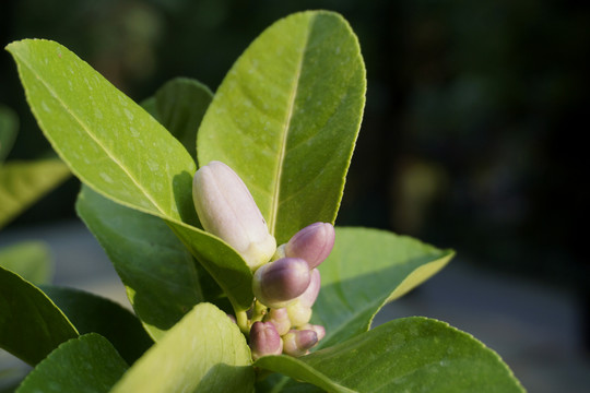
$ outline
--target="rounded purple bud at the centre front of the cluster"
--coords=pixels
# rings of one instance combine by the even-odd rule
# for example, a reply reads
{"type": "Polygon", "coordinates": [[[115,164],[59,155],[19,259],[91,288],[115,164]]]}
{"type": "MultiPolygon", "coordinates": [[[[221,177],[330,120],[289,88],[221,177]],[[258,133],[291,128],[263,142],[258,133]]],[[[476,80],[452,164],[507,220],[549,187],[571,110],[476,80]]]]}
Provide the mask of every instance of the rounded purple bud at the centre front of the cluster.
{"type": "Polygon", "coordinates": [[[298,258],[283,258],[256,271],[252,290],[261,303],[282,308],[307,289],[310,278],[307,262],[298,258]]]}

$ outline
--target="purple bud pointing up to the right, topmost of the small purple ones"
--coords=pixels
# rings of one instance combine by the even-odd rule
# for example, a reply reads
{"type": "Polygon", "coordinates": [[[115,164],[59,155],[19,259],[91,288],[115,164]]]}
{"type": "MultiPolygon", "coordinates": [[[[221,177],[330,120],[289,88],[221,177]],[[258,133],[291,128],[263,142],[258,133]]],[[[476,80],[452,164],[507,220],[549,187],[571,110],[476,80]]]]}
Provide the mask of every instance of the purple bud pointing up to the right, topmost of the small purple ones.
{"type": "Polygon", "coordinates": [[[334,247],[334,227],[329,223],[315,223],[296,233],[285,246],[290,258],[303,258],[309,270],[328,258],[334,247]]]}

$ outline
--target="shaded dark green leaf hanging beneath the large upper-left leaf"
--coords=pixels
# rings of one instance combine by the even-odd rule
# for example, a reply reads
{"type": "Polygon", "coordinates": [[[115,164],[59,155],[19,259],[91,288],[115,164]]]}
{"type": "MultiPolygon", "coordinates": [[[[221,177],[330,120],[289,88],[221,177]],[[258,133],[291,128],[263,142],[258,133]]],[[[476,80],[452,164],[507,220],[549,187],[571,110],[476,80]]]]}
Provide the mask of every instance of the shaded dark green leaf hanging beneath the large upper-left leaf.
{"type": "Polygon", "coordinates": [[[161,218],[119,205],[85,186],[75,207],[106,250],[152,337],[160,340],[203,301],[192,257],[161,218]]]}

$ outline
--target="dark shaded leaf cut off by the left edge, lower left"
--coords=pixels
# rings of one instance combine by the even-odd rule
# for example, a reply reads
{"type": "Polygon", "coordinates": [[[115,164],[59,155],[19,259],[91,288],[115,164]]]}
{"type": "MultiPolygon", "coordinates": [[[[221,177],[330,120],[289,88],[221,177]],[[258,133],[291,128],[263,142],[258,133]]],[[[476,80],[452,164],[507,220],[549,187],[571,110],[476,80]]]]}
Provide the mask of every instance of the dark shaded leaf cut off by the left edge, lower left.
{"type": "Polygon", "coordinates": [[[0,347],[36,365],[67,340],[74,326],[37,287],[0,267],[0,347]]]}

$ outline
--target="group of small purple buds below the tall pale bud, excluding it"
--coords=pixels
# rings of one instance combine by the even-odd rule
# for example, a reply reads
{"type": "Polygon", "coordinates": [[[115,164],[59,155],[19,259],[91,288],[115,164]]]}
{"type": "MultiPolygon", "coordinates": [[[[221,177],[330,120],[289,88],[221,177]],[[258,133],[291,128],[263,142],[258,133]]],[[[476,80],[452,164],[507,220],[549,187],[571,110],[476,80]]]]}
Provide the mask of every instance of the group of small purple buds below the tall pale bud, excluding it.
{"type": "Polygon", "coordinates": [[[272,262],[256,271],[252,290],[258,307],[250,330],[255,359],[281,353],[303,356],[323,338],[323,326],[312,325],[309,320],[320,289],[317,266],[328,258],[333,245],[331,224],[311,224],[280,246],[272,262]]]}

